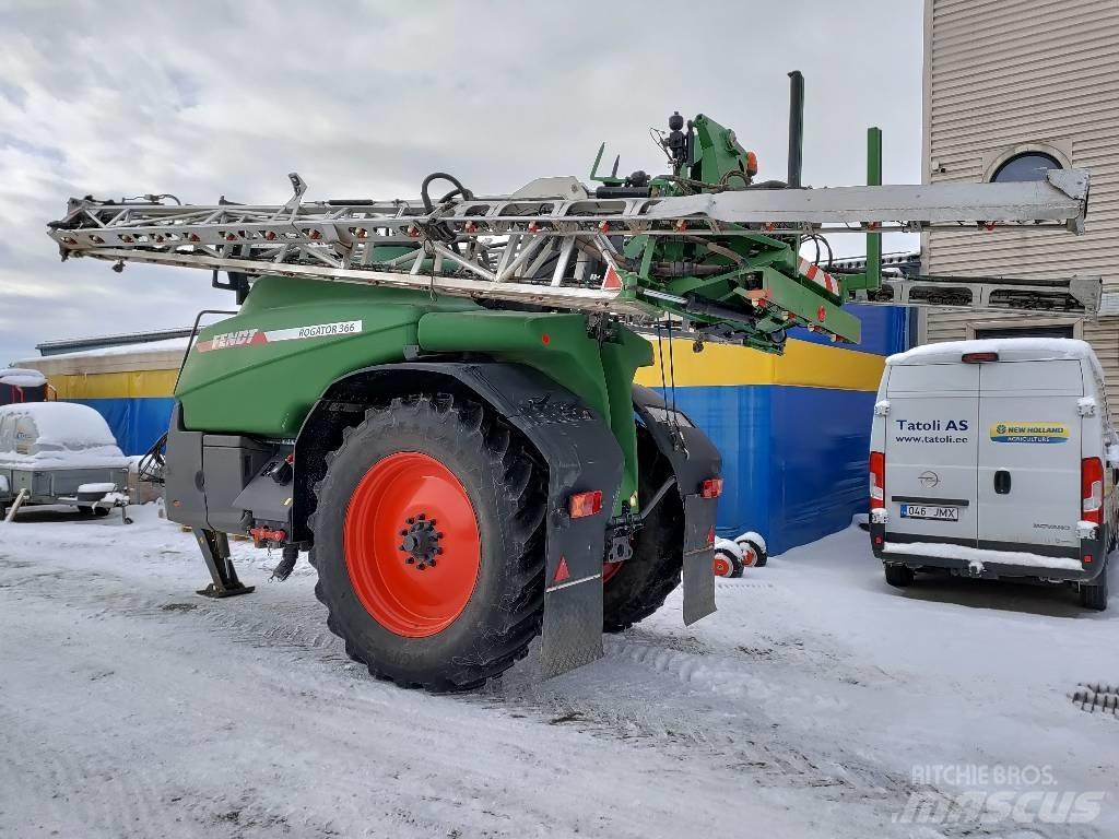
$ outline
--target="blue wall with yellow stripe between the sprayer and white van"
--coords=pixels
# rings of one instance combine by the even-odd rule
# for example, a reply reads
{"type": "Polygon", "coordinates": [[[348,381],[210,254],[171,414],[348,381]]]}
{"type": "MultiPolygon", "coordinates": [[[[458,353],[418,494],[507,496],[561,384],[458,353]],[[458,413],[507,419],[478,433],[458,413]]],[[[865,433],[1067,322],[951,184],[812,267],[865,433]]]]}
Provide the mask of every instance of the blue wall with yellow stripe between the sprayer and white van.
{"type": "MultiPolygon", "coordinates": [[[[908,347],[909,318],[893,307],[850,311],[863,323],[854,348],[805,330],[790,333],[779,358],[676,346],[676,404],[723,454],[721,536],[756,530],[780,554],[866,509],[875,392],[885,356],[908,347]]],[[[660,392],[659,362],[652,371],[642,384],[660,392]]]]}

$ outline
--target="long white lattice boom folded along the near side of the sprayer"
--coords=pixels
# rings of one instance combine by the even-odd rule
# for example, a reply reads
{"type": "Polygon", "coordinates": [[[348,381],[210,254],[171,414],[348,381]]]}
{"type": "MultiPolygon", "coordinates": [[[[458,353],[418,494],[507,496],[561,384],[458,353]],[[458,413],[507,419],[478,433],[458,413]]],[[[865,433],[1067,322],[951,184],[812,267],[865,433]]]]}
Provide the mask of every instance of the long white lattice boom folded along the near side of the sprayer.
{"type": "Polygon", "coordinates": [[[289,177],[295,195],[283,205],[70,199],[49,235],[64,258],[311,276],[649,319],[660,314],[657,299],[670,295],[627,289],[613,271],[632,236],[685,236],[733,258],[717,239],[961,226],[1079,233],[1089,183],[1087,172],[1066,169],[1027,183],[594,198],[575,178],[544,178],[511,196],[425,206],[303,201],[305,183],[289,177]]]}

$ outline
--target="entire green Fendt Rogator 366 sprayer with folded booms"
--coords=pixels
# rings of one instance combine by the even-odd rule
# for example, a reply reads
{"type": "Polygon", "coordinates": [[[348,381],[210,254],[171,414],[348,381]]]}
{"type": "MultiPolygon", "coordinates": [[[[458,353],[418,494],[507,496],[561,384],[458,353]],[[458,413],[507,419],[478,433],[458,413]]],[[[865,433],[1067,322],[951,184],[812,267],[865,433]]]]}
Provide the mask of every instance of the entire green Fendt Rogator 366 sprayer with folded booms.
{"type": "Polygon", "coordinates": [[[856,299],[1094,309],[1098,281],[883,280],[885,230],[1079,230],[1088,177],[801,188],[791,75],[783,182],[755,179],[733,131],[674,114],[658,135],[671,173],[600,177],[596,161],[593,189],[480,197],[433,173],[420,200],[308,201],[292,175],[282,206],[72,199],[49,226],[64,258],[205,268],[239,303],[198,331],[166,439],[167,512],[194,528],[203,593],[251,591],[226,536],[246,534],[282,550],[281,578],[310,552],[331,630],[377,676],[471,688],[537,635],[558,673],[681,578],[685,622],[715,609],[720,455],[634,386],[657,340],[639,330],[780,353],[792,327],[857,342],[856,299]],[[800,256],[853,230],[864,272],[800,256]]]}

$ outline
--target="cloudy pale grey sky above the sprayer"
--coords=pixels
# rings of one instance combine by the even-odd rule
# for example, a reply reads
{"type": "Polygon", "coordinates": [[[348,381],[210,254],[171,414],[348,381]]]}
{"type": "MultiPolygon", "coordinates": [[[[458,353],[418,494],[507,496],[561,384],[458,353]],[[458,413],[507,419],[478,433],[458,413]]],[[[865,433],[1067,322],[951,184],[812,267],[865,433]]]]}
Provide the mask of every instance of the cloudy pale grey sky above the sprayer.
{"type": "MultiPolygon", "coordinates": [[[[784,177],[787,72],[806,76],[805,182],[920,181],[920,0],[48,2],[0,0],[0,365],[50,339],[189,324],[209,276],[58,261],[69,196],[185,201],[479,194],[585,177],[598,144],[662,171],[678,110],[732,125],[784,177]]],[[[858,253],[861,242],[844,243],[858,253]]]]}

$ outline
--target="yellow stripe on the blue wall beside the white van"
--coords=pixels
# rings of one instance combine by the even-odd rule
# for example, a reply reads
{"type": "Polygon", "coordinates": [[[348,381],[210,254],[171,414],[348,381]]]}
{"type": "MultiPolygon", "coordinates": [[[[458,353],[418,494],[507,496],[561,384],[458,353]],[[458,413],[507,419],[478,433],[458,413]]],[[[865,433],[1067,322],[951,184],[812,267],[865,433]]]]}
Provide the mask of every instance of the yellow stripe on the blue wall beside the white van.
{"type": "MultiPolygon", "coordinates": [[[[669,375],[669,348],[665,346],[665,378],[669,375]]],[[[657,341],[652,341],[651,367],[637,371],[637,381],[646,387],[661,383],[657,341]]],[[[885,357],[839,347],[826,347],[808,341],[790,340],[783,356],[707,343],[703,352],[692,351],[692,341],[674,338],[673,369],[680,387],[731,385],[793,385],[831,387],[843,390],[877,390],[885,367],[885,357]]]]}

